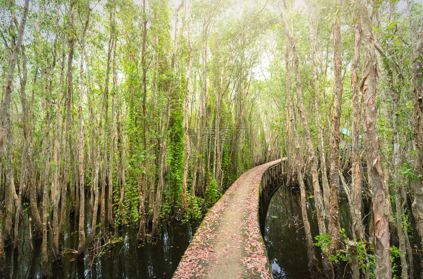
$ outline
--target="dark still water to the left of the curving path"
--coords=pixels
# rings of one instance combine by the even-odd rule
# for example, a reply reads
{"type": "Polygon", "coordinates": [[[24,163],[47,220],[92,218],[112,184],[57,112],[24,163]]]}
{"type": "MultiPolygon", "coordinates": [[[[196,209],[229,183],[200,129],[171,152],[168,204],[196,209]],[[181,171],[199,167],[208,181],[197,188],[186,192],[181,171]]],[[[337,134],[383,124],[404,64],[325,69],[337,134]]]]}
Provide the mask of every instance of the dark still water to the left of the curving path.
{"type": "MultiPolygon", "coordinates": [[[[69,227],[77,228],[77,223],[76,227],[72,223],[69,227]]],[[[163,223],[160,236],[147,239],[142,248],[137,248],[136,230],[121,231],[121,240],[111,251],[106,250],[94,259],[87,254],[81,263],[75,261],[76,254],[73,253],[78,248],[78,235],[68,233],[63,260],[51,263],[51,278],[170,279],[200,223],[201,220],[191,224],[163,223]]],[[[10,247],[6,249],[5,278],[41,278],[41,241],[33,239],[32,253],[28,235],[22,242],[17,254],[13,254],[10,247]]]]}

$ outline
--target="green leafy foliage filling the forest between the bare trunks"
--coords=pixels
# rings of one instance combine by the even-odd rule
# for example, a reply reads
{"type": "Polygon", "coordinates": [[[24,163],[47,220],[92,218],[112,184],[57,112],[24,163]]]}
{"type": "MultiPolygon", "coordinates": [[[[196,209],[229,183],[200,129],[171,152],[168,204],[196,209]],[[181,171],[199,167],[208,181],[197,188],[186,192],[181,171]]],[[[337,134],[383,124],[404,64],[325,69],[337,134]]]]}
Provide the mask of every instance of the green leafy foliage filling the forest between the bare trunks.
{"type": "MultiPolygon", "coordinates": [[[[407,146],[415,140],[413,127],[413,113],[415,101],[409,88],[412,86],[412,71],[410,71],[413,62],[420,61],[412,57],[412,48],[415,45],[415,34],[412,34],[411,24],[414,28],[420,23],[421,4],[411,6],[412,13],[404,16],[397,5],[390,5],[397,0],[382,1],[377,0],[378,5],[375,8],[377,23],[372,28],[375,41],[381,49],[386,51],[387,57],[380,57],[383,65],[378,67],[377,90],[383,92],[377,94],[376,104],[380,107],[382,113],[378,113],[378,133],[381,140],[382,160],[384,167],[390,167],[390,158],[392,158],[391,138],[393,137],[393,116],[397,117],[398,141],[401,148],[401,160],[406,160],[401,166],[400,176],[406,178],[409,182],[419,179],[414,172],[414,158],[417,152],[411,151],[412,145],[407,146]],[[398,66],[397,66],[398,65],[398,66]],[[399,67],[399,69],[397,69],[399,67]],[[393,87],[390,84],[390,78],[387,76],[388,70],[393,70],[393,87]],[[393,90],[394,89],[394,90],[393,90]],[[396,91],[396,92],[393,92],[396,91]],[[398,112],[393,113],[393,105],[396,104],[398,112]],[[388,115],[384,115],[384,110],[388,115]],[[384,141],[385,140],[385,141],[384,141]],[[386,143],[385,143],[386,142],[386,143]]],[[[3,1],[1,7],[3,13],[0,15],[0,31],[4,44],[0,46],[0,60],[3,65],[1,70],[2,79],[6,79],[8,72],[8,59],[10,51],[7,44],[13,42],[17,35],[17,26],[10,24],[10,16],[16,13],[17,19],[22,16],[22,5],[8,3],[3,1]]],[[[165,0],[147,1],[145,13],[142,11],[142,4],[129,1],[106,1],[94,3],[90,1],[74,2],[75,11],[75,34],[70,24],[69,11],[70,2],[68,1],[37,1],[30,5],[29,16],[24,34],[24,44],[27,55],[28,80],[26,84],[27,106],[30,108],[30,135],[31,152],[28,153],[30,165],[34,170],[30,178],[34,179],[33,185],[40,184],[43,174],[46,171],[51,173],[56,169],[59,171],[60,180],[63,182],[75,182],[76,169],[78,164],[78,88],[83,88],[83,122],[84,127],[84,153],[86,161],[84,166],[84,175],[86,182],[86,195],[89,196],[88,189],[92,188],[93,183],[93,164],[96,162],[96,148],[100,150],[101,158],[107,156],[110,152],[110,132],[115,127],[115,151],[111,154],[113,162],[113,214],[117,216],[117,224],[137,224],[139,220],[139,193],[143,178],[157,177],[158,171],[154,165],[157,160],[157,139],[162,133],[167,115],[164,111],[167,103],[167,92],[170,86],[173,88],[171,96],[171,116],[169,128],[166,133],[166,144],[164,158],[167,160],[163,186],[163,203],[161,216],[169,218],[180,218],[184,222],[196,218],[201,218],[202,213],[212,206],[219,198],[219,191],[223,192],[238,178],[238,176],[250,169],[253,164],[264,163],[271,160],[281,153],[287,153],[292,146],[289,131],[286,127],[287,116],[287,71],[285,69],[284,51],[286,37],[279,24],[279,14],[276,9],[269,9],[267,6],[263,13],[256,16],[256,13],[264,4],[261,1],[251,3],[248,1],[240,2],[242,5],[237,7],[239,13],[228,13],[233,10],[238,2],[211,0],[194,1],[192,10],[192,21],[195,26],[191,34],[193,46],[193,68],[189,89],[189,109],[190,122],[188,129],[196,132],[199,116],[200,92],[203,81],[207,84],[205,107],[201,108],[203,115],[200,115],[200,130],[206,129],[206,137],[201,143],[200,158],[204,159],[205,176],[208,178],[207,187],[204,193],[204,199],[187,195],[187,210],[182,216],[182,178],[184,167],[184,114],[183,101],[185,91],[185,76],[187,71],[189,50],[186,37],[187,16],[185,8],[180,11],[180,34],[178,39],[178,51],[176,57],[172,57],[173,52],[173,15],[175,3],[165,0]],[[96,6],[94,8],[94,6],[96,6]],[[81,34],[84,28],[83,22],[89,9],[91,11],[90,24],[86,34],[85,51],[82,50],[81,34]],[[111,37],[111,18],[109,11],[116,10],[116,25],[113,38],[111,37]],[[222,16],[226,15],[226,16],[222,16]],[[229,17],[227,17],[229,16],[229,17]],[[255,19],[252,21],[253,17],[255,19]],[[147,33],[143,30],[143,22],[147,21],[147,33]],[[204,25],[208,24],[209,34],[203,30],[204,25]],[[246,27],[248,24],[248,27],[246,27]],[[206,65],[207,77],[202,76],[202,48],[203,36],[207,39],[207,58],[206,65]],[[76,42],[70,52],[70,38],[75,37],[76,42]],[[110,41],[109,41],[110,38],[110,41]],[[146,39],[145,48],[143,48],[143,39],[146,39]],[[113,40],[112,40],[113,39],[113,40]],[[115,53],[109,57],[108,50],[110,44],[114,43],[115,53]],[[142,50],[144,50],[142,52],[142,50]],[[142,57],[142,54],[145,57],[142,57]],[[156,64],[155,55],[158,60],[156,64]],[[53,57],[55,57],[55,62],[53,57]],[[229,56],[231,55],[231,56],[229,56]],[[264,58],[265,57],[265,58],[264,58]],[[71,69],[73,72],[67,76],[68,59],[72,61],[71,69]],[[170,71],[170,64],[174,60],[175,70],[170,71]],[[116,72],[118,80],[114,80],[114,60],[116,59],[116,72]],[[78,61],[82,61],[80,64],[78,61]],[[113,62],[111,62],[113,60],[113,62]],[[54,62],[54,63],[53,63],[54,62]],[[108,62],[111,62],[108,65],[108,62]],[[227,62],[227,63],[226,63],[227,62]],[[264,63],[263,63],[264,62],[264,63]],[[53,65],[54,68],[50,69],[53,65]],[[81,66],[82,65],[82,66],[81,66]],[[83,69],[80,69],[83,67],[83,69]],[[259,78],[261,69],[264,78],[259,78]],[[79,71],[83,70],[82,78],[79,71]],[[146,70],[146,72],[143,72],[146,70]],[[110,72],[110,73],[108,73],[110,72]],[[108,75],[108,76],[107,76],[108,75]],[[225,76],[226,75],[226,76],[225,76]],[[71,84],[69,81],[73,81],[71,84]],[[146,81],[144,87],[144,80],[146,81]],[[225,82],[223,82],[223,80],[225,82]],[[108,82],[108,83],[107,83],[108,82]],[[115,84],[117,83],[117,84],[115,84]],[[72,85],[68,88],[68,85],[72,85]],[[49,92],[49,88],[52,92],[49,92]],[[61,87],[60,87],[61,86],[61,87]],[[109,90],[105,91],[106,86],[109,90]],[[108,94],[106,94],[108,92],[108,94]],[[49,106],[49,96],[51,94],[51,103],[53,110],[49,106]],[[146,94],[144,96],[144,93],[146,94]],[[220,95],[218,95],[220,94],[220,95]],[[107,96],[106,99],[103,98],[107,96]],[[145,98],[144,98],[145,97],[145,98]],[[69,99],[69,100],[68,100],[69,99]],[[112,99],[115,101],[115,118],[112,121],[112,99]],[[217,100],[220,101],[217,104],[217,100]],[[68,101],[70,107],[68,106],[68,101]],[[58,105],[58,106],[56,106],[58,105]],[[217,114],[217,105],[220,105],[220,112],[217,114]],[[105,108],[108,108],[105,112],[105,108]],[[145,109],[144,109],[145,108],[145,109]],[[70,127],[67,127],[67,113],[70,113],[70,127]],[[215,134],[211,130],[215,129],[216,116],[220,117],[220,152],[214,154],[215,134]],[[91,118],[92,117],[92,118],[91,118]],[[50,130],[47,131],[47,119],[51,120],[50,130]],[[107,119],[107,122],[106,122],[107,119]],[[203,127],[203,120],[205,127],[203,127]],[[59,123],[56,123],[59,121],[59,123]],[[145,124],[145,125],[144,125],[145,124]],[[210,129],[210,130],[209,130],[210,129]],[[61,130],[64,130],[61,132],[61,130]],[[237,134],[237,131],[242,132],[237,134]],[[244,133],[245,131],[245,133],[244,133]],[[48,132],[48,133],[47,133],[48,132]],[[67,133],[70,133],[70,141],[67,141],[67,133]],[[46,135],[48,135],[46,137],[46,135]],[[60,161],[56,161],[54,150],[47,150],[47,139],[52,145],[58,147],[60,161]],[[124,144],[123,144],[124,143],[124,144]],[[69,151],[66,151],[66,144],[70,144],[69,151]],[[94,151],[93,151],[94,150],[94,151]],[[50,166],[46,166],[46,154],[50,152],[50,166]],[[65,153],[67,152],[67,153],[65,153]],[[91,153],[92,152],[92,153],[91,153]],[[104,154],[106,152],[106,154],[104,154]],[[221,155],[221,170],[217,170],[218,175],[223,171],[222,183],[220,179],[216,181],[210,178],[213,173],[214,158],[221,155]],[[93,158],[94,157],[94,158],[93,158]],[[64,160],[69,159],[69,166],[66,173],[64,171],[64,160]],[[121,193],[121,182],[118,178],[120,165],[123,164],[126,182],[124,187],[123,215],[120,216],[118,205],[121,193]],[[46,170],[46,168],[49,168],[46,170]],[[222,185],[219,185],[221,183],[222,185]],[[121,218],[122,217],[122,218],[121,218]]],[[[353,26],[356,19],[352,14],[355,6],[352,1],[344,3],[342,9],[336,9],[333,1],[311,1],[313,14],[311,21],[318,24],[315,34],[316,51],[318,54],[319,67],[319,86],[321,88],[321,104],[318,108],[321,113],[320,124],[323,126],[324,142],[327,150],[330,140],[330,119],[333,103],[333,78],[332,78],[332,28],[331,23],[338,13],[343,17],[343,35],[342,35],[342,57],[345,61],[352,60],[352,42],[353,26]],[[326,64],[326,66],[325,66],[326,64]]],[[[295,6],[295,5],[294,5],[295,6]]],[[[317,118],[314,103],[316,101],[316,92],[311,89],[311,80],[313,66],[310,59],[310,37],[307,18],[302,8],[292,7],[287,11],[288,17],[295,30],[294,36],[297,42],[297,50],[300,56],[300,75],[303,84],[303,101],[308,108],[305,112],[309,120],[309,128],[313,142],[317,140],[317,118]]],[[[14,73],[11,105],[11,127],[12,127],[12,164],[13,174],[16,181],[21,175],[21,165],[23,164],[22,147],[25,144],[24,133],[25,125],[23,121],[24,104],[19,92],[20,78],[23,76],[23,49],[20,51],[17,61],[19,70],[14,73]]],[[[379,63],[379,62],[378,62],[379,63]]],[[[363,61],[359,68],[363,67],[363,61]]],[[[352,93],[350,75],[351,67],[349,63],[343,63],[343,98],[342,115],[340,115],[341,127],[350,127],[352,122],[352,93]]],[[[361,72],[361,71],[360,71],[361,72]]],[[[359,76],[359,78],[363,78],[359,76]]],[[[292,77],[292,90],[296,91],[295,77],[292,77]]],[[[294,94],[294,103],[298,97],[294,94]]],[[[297,105],[295,104],[297,111],[297,105]]],[[[293,129],[294,127],[291,127],[293,129]]],[[[297,127],[300,137],[303,139],[304,131],[300,125],[297,127]]],[[[347,139],[349,141],[349,139],[347,139]]],[[[302,146],[303,147],[303,146],[302,146]]],[[[7,147],[8,148],[8,147],[7,147]]],[[[194,152],[194,144],[190,142],[190,154],[194,152]]],[[[326,151],[327,151],[326,150],[326,151]]],[[[326,152],[324,151],[324,152],[326,152]]],[[[344,156],[343,158],[346,158],[344,156]]],[[[190,157],[191,164],[192,158],[190,157]]],[[[347,162],[348,163],[348,162],[347,162]]],[[[3,164],[3,167],[6,164],[3,164]]],[[[100,162],[100,181],[101,186],[102,173],[107,172],[108,167],[104,162],[100,162]]],[[[192,166],[189,173],[192,174],[192,166]]],[[[3,170],[3,174],[4,173],[3,170]]],[[[305,169],[307,175],[307,170],[305,169]]],[[[28,178],[25,178],[28,179],[28,178]]],[[[189,179],[191,180],[191,179],[189,179]]],[[[148,183],[146,183],[148,184],[148,183]]],[[[199,183],[200,184],[200,183],[199,183]]],[[[73,184],[72,184],[73,185],[73,184]]],[[[148,187],[147,185],[143,185],[148,187]]],[[[201,185],[203,186],[203,185],[201,185]]],[[[101,187],[100,187],[101,188],[101,187]]],[[[391,187],[393,188],[393,187],[391,187]]],[[[201,189],[199,192],[202,192],[201,189]]],[[[37,198],[40,197],[39,189],[36,191],[37,198]]],[[[150,192],[149,192],[150,193],[150,192]]],[[[366,188],[363,188],[363,198],[368,199],[369,194],[366,188]]],[[[203,193],[202,193],[203,194],[203,193]]],[[[412,198],[413,191],[409,196],[412,198]]],[[[153,194],[154,195],[154,194],[153,194]]],[[[73,195],[75,196],[75,195],[73,195]]],[[[154,197],[153,197],[154,198],[154,197]]],[[[309,198],[312,198],[310,195],[309,198]]],[[[391,195],[391,198],[393,196],[391,195]]],[[[393,200],[392,200],[393,201],[393,200]]],[[[72,197],[62,203],[79,206],[76,199],[72,197]]],[[[161,203],[162,201],[160,201],[161,203]]],[[[148,202],[146,201],[146,205],[148,202]]],[[[394,201],[393,201],[394,203],[394,201]]],[[[28,203],[24,203],[24,212],[28,210],[28,203]]],[[[70,206],[69,206],[70,207],[70,206]]],[[[147,208],[147,207],[146,207],[147,208]]],[[[89,205],[86,210],[89,211],[89,205]]],[[[152,208],[149,208],[152,210],[152,208]]],[[[53,216],[51,210],[48,210],[49,218],[53,216]]],[[[402,228],[412,232],[411,224],[408,219],[410,211],[404,210],[402,228]]],[[[273,218],[274,216],[272,216],[273,218]]],[[[90,217],[87,216],[87,219],[90,217]]],[[[89,222],[90,220],[86,220],[89,222]]],[[[89,222],[90,223],[90,222],[89,222]]],[[[342,243],[346,245],[348,240],[345,231],[341,232],[342,243]]],[[[409,234],[410,237],[412,233],[409,234]]],[[[323,234],[316,237],[317,244],[322,250],[328,249],[332,236],[323,234]]],[[[368,243],[354,242],[358,247],[362,265],[374,266],[374,256],[372,248],[368,243]]],[[[398,252],[395,248],[391,250],[393,256],[398,252]]],[[[332,260],[348,260],[348,255],[337,251],[332,255],[332,260]]]]}

